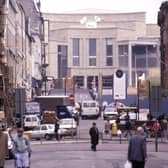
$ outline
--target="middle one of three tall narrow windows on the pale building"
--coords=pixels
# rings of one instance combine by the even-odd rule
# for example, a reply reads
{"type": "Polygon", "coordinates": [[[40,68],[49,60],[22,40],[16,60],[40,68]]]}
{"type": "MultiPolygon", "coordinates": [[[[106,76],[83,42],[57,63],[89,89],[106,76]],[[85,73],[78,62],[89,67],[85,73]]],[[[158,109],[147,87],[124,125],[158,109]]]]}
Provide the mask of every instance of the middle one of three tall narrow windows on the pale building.
{"type": "Polygon", "coordinates": [[[89,39],[89,66],[96,66],[96,39],[89,39]]]}

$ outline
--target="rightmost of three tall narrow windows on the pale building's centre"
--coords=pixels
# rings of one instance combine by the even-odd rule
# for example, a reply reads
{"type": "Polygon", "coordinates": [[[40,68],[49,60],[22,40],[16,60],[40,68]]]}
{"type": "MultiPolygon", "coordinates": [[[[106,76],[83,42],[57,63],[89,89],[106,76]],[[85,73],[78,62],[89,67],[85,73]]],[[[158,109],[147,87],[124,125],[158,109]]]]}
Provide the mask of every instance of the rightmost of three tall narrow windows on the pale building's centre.
{"type": "Polygon", "coordinates": [[[106,39],[106,66],[113,65],[113,45],[112,39],[106,39]]]}

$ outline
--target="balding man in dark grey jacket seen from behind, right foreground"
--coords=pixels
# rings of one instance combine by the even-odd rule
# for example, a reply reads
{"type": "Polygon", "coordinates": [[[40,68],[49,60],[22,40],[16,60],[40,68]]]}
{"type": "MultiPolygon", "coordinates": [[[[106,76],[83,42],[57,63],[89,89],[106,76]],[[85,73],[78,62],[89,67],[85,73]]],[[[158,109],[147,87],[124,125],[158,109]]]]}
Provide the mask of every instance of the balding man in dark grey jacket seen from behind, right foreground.
{"type": "Polygon", "coordinates": [[[132,136],[128,146],[128,160],[132,163],[132,168],[144,168],[147,160],[147,147],[144,130],[137,128],[137,134],[132,136]]]}

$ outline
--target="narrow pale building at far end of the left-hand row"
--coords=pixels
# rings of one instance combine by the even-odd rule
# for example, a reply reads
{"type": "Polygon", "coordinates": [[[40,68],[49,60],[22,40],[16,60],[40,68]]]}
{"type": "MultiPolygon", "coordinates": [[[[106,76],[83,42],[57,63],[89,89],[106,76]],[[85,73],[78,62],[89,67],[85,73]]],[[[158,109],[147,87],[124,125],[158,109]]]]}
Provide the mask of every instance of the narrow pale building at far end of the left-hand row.
{"type": "Polygon", "coordinates": [[[31,67],[32,74],[30,75],[32,81],[33,95],[40,94],[42,87],[42,63],[43,63],[43,18],[40,11],[39,0],[17,0],[25,11],[26,23],[28,24],[28,33],[31,35],[33,42],[31,44],[31,67]]]}

